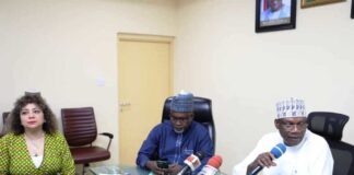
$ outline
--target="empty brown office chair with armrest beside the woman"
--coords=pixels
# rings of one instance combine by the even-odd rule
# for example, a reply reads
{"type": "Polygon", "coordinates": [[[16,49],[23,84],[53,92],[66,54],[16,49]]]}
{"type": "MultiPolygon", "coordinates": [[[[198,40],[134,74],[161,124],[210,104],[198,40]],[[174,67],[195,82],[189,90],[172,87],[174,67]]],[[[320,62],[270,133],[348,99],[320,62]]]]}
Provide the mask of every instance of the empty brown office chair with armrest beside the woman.
{"type": "Polygon", "coordinates": [[[106,149],[92,144],[97,138],[93,107],[62,108],[61,121],[63,135],[68,141],[75,164],[88,166],[91,162],[104,161],[110,158],[108,150],[114,138],[111,133],[99,133],[109,138],[106,149]]]}

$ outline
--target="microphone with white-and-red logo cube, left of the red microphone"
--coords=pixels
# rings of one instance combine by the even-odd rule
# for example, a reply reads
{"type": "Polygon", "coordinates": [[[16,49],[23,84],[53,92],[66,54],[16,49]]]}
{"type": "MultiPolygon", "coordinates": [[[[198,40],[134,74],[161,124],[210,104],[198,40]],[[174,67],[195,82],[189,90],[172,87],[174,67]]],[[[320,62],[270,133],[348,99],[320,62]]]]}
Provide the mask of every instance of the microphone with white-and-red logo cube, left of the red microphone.
{"type": "Polygon", "coordinates": [[[177,175],[188,175],[191,174],[196,168],[200,166],[200,160],[204,159],[203,152],[197,152],[194,154],[190,154],[185,161],[185,166],[177,175]]]}

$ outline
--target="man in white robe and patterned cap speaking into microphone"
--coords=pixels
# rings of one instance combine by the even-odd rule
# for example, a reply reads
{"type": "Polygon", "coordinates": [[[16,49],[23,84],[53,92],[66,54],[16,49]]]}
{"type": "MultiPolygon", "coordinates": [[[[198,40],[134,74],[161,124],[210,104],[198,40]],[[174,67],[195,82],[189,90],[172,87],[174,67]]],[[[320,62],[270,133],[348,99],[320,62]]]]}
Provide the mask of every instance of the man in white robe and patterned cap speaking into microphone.
{"type": "Polygon", "coordinates": [[[279,132],[262,137],[248,156],[234,167],[233,175],[249,175],[264,167],[263,175],[332,175],[333,158],[327,141],[307,130],[305,104],[290,98],[276,104],[275,128],[279,132]],[[275,159],[270,151],[284,143],[286,151],[275,159]]]}

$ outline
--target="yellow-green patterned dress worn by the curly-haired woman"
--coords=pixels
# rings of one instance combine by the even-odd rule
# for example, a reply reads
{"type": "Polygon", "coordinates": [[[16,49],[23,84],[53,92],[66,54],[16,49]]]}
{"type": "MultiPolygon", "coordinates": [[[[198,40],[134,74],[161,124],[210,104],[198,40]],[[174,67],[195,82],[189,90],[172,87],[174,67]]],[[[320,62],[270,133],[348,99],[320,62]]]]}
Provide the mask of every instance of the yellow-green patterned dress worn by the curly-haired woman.
{"type": "Polygon", "coordinates": [[[62,174],[74,175],[75,166],[64,137],[56,132],[45,135],[44,158],[35,167],[27,151],[24,135],[8,133],[0,139],[0,175],[4,174],[62,174]]]}

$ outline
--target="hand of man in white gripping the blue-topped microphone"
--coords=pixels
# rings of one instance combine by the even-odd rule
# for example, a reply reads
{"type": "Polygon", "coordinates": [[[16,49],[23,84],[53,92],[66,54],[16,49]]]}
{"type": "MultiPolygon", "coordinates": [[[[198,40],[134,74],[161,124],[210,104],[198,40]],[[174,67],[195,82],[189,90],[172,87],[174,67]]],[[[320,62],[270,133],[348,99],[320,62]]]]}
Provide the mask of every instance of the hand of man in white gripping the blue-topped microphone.
{"type": "Polygon", "coordinates": [[[247,166],[247,174],[253,171],[257,166],[262,166],[262,167],[276,166],[273,160],[275,160],[275,156],[270,152],[264,152],[259,154],[257,159],[247,166]]]}

